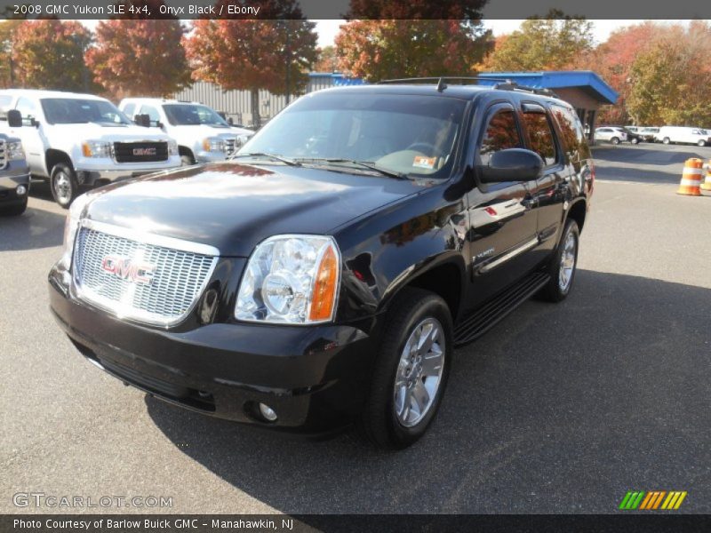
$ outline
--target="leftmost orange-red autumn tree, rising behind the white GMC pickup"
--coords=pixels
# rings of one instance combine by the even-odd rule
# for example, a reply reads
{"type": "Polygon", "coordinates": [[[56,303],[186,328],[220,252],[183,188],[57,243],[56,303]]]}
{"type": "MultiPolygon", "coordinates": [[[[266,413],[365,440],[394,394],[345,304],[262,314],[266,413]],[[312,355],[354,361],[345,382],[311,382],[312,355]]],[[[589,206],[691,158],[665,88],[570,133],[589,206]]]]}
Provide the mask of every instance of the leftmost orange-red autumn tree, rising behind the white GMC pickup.
{"type": "Polygon", "coordinates": [[[24,20],[13,41],[15,84],[32,89],[92,90],[84,65],[92,32],[76,20],[24,20]]]}

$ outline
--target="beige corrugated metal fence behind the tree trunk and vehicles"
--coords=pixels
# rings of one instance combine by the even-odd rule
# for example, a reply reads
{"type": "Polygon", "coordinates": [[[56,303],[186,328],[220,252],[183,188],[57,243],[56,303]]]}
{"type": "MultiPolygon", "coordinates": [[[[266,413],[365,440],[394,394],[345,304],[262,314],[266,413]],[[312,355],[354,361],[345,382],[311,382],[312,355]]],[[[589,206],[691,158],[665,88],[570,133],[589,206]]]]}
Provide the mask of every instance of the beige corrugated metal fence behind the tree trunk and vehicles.
{"type": "MultiPolygon", "coordinates": [[[[348,78],[340,73],[312,72],[308,75],[306,92],[319,91],[342,85],[360,85],[363,80],[348,78]]],[[[174,99],[198,101],[217,111],[225,113],[236,124],[252,125],[253,111],[250,91],[223,91],[220,85],[209,82],[196,82],[191,87],[172,95],[174,99]]],[[[296,98],[292,96],[292,100],[296,98]]],[[[261,123],[268,120],[286,107],[286,97],[260,90],[261,123]]]]}

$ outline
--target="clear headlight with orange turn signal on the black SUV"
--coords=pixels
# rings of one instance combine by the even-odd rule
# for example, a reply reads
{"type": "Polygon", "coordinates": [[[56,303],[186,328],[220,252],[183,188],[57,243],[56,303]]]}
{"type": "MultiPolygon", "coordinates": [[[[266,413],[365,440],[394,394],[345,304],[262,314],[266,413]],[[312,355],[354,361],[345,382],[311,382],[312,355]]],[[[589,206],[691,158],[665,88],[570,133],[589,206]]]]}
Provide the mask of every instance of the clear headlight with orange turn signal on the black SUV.
{"type": "Polygon", "coordinates": [[[340,252],[332,237],[278,235],[257,246],[237,294],[249,322],[329,322],[336,312],[340,252]]]}

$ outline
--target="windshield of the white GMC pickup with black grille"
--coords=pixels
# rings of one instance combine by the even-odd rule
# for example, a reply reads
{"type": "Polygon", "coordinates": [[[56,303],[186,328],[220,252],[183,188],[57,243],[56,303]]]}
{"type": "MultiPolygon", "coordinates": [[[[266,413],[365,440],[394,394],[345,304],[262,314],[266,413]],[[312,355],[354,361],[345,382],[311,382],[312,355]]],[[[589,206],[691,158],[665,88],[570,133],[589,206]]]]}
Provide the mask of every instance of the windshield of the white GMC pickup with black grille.
{"type": "Polygon", "coordinates": [[[51,124],[130,124],[126,115],[108,100],[78,98],[42,99],[44,116],[51,124]]]}

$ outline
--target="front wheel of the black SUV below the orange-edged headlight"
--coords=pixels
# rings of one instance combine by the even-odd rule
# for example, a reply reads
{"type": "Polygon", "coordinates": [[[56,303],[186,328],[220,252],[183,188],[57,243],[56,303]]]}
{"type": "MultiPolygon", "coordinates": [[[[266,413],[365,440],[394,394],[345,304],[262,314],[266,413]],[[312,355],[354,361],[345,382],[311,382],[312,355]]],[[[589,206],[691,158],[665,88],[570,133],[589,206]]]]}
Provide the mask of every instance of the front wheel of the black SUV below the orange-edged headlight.
{"type": "Polygon", "coordinates": [[[379,448],[403,449],[425,434],[442,402],[454,344],[451,314],[444,300],[435,293],[405,288],[385,320],[360,426],[379,448]],[[423,354],[417,352],[412,354],[406,349],[414,346],[411,343],[416,339],[416,332],[427,330],[438,330],[435,342],[424,354],[430,357],[422,357],[423,354]],[[439,358],[437,352],[441,354],[439,358]],[[430,363],[423,365],[426,360],[430,363]],[[423,409],[416,409],[419,404],[423,409]]]}

